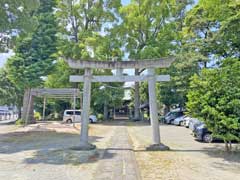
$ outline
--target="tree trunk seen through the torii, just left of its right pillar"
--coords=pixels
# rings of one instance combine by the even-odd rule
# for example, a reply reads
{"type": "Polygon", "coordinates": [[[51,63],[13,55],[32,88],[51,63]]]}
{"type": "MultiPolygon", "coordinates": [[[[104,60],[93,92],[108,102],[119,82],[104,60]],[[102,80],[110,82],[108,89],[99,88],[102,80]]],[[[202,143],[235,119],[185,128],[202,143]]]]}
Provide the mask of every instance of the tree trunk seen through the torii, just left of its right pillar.
{"type": "MultiPolygon", "coordinates": [[[[138,69],[135,70],[135,75],[139,75],[138,69]]],[[[140,94],[139,94],[139,82],[135,82],[135,96],[134,96],[134,119],[140,119],[140,94]]]]}

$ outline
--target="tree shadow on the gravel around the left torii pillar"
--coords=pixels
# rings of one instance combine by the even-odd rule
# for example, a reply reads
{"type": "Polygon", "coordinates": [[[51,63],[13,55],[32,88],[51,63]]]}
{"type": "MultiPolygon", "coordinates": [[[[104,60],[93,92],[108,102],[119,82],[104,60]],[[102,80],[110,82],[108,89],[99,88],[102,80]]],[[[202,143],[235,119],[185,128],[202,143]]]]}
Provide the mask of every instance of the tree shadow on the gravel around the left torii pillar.
{"type": "MultiPolygon", "coordinates": [[[[103,137],[89,136],[91,143],[99,141],[103,137]]],[[[72,147],[77,146],[79,134],[61,133],[54,130],[45,132],[11,132],[0,135],[1,154],[14,154],[19,152],[33,151],[31,155],[23,156],[23,163],[27,164],[72,164],[92,163],[98,161],[104,149],[93,151],[75,151],[72,147]]],[[[107,158],[112,158],[114,153],[107,152],[107,158]]]]}

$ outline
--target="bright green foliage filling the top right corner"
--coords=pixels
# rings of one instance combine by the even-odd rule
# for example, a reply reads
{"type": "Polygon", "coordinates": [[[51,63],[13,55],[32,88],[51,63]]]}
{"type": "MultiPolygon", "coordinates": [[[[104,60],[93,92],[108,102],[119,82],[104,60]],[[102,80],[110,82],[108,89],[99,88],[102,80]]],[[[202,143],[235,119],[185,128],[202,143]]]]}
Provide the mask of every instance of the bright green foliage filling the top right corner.
{"type": "Polygon", "coordinates": [[[236,0],[200,0],[187,14],[183,37],[205,57],[199,59],[205,67],[214,59],[239,56],[239,8],[236,0]]]}

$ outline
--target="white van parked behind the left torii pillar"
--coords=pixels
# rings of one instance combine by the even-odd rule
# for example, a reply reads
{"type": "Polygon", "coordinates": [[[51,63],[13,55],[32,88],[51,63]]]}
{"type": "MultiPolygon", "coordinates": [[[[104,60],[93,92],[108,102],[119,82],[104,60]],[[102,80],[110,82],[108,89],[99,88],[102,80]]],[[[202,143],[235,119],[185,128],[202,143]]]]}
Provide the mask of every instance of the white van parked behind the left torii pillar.
{"type": "MultiPolygon", "coordinates": [[[[65,123],[75,123],[75,122],[81,122],[82,111],[81,110],[65,110],[63,113],[63,122],[65,123]]],[[[90,123],[96,123],[97,117],[95,115],[89,116],[89,122],[90,123]]]]}

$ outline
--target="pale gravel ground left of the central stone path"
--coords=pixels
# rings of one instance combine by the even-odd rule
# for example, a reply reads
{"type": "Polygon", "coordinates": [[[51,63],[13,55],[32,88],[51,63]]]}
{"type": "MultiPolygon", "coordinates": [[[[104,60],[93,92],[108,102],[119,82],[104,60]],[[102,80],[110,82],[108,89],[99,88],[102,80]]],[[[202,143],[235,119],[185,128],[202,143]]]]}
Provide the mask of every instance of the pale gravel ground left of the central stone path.
{"type": "Polygon", "coordinates": [[[90,180],[114,127],[90,125],[90,142],[98,150],[72,151],[79,142],[79,125],[40,123],[25,128],[0,126],[0,179],[90,180]]]}

